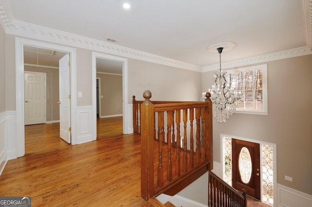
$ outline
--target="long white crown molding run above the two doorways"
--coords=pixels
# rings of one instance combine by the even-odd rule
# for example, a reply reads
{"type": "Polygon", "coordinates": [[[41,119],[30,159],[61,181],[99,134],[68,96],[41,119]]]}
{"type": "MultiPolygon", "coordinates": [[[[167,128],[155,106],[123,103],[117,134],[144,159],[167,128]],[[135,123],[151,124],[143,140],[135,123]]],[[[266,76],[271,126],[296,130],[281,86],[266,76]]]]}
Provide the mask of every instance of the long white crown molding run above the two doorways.
{"type": "Polygon", "coordinates": [[[109,42],[104,42],[81,35],[66,33],[63,31],[54,30],[51,28],[42,27],[19,20],[15,20],[14,22],[12,22],[12,24],[7,26],[6,33],[10,35],[18,35],[48,42],[54,42],[57,44],[84,48],[97,52],[115,54],[123,57],[144,60],[181,69],[194,70],[197,72],[201,72],[202,69],[200,66],[196,66],[190,63],[177,61],[148,52],[142,52],[127,47],[118,46],[109,42]]]}

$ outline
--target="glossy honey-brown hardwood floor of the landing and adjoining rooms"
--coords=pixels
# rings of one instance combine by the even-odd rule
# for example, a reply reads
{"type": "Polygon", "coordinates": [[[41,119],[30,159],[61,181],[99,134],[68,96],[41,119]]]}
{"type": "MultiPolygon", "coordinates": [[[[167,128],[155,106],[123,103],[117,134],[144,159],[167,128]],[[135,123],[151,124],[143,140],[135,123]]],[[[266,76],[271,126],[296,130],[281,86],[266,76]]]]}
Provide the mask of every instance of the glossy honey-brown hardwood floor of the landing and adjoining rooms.
{"type": "Polygon", "coordinates": [[[25,126],[25,156],[8,161],[0,196],[29,196],[32,207],[151,206],[140,196],[140,137],[122,134],[122,117],[98,119],[97,136],[70,145],[59,123],[25,126]]]}

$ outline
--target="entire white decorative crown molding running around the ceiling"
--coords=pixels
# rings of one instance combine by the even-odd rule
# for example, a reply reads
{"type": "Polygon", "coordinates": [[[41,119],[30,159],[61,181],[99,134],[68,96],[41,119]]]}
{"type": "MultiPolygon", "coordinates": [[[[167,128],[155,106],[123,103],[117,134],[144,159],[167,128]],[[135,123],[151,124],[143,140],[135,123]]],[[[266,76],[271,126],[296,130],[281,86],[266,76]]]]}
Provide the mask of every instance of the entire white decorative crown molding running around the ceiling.
{"type": "MultiPolygon", "coordinates": [[[[287,51],[274,52],[265,55],[249,57],[222,63],[222,68],[234,68],[251,64],[258,64],[272,60],[284,59],[300,55],[311,54],[312,51],[312,0],[302,0],[303,18],[305,23],[306,47],[295,48],[287,51]]],[[[66,33],[35,24],[15,20],[9,0],[0,0],[0,24],[7,34],[35,38],[42,41],[64,44],[67,46],[84,48],[97,52],[114,54],[122,57],[144,60],[157,64],[188,69],[197,72],[207,72],[219,69],[219,64],[200,67],[194,64],[162,57],[148,52],[126,48],[109,42],[92,39],[89,37],[66,33]]]]}

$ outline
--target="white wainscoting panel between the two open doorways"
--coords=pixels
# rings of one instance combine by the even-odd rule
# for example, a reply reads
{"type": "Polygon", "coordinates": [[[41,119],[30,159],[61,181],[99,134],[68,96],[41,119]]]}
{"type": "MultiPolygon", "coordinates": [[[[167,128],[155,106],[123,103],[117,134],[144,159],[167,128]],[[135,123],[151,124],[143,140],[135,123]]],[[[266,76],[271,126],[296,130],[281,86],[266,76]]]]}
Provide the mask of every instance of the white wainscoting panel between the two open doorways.
{"type": "Polygon", "coordinates": [[[92,106],[77,106],[77,144],[93,141],[97,138],[93,132],[92,106]]]}

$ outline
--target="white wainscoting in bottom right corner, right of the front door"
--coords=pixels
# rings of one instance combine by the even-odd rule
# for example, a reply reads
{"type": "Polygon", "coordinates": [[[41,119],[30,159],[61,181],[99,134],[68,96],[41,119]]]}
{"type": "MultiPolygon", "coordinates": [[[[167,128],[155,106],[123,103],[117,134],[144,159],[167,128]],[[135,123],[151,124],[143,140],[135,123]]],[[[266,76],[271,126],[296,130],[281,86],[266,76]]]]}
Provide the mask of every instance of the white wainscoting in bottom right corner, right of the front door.
{"type": "Polygon", "coordinates": [[[312,195],[277,184],[277,207],[312,207],[312,195]]]}

